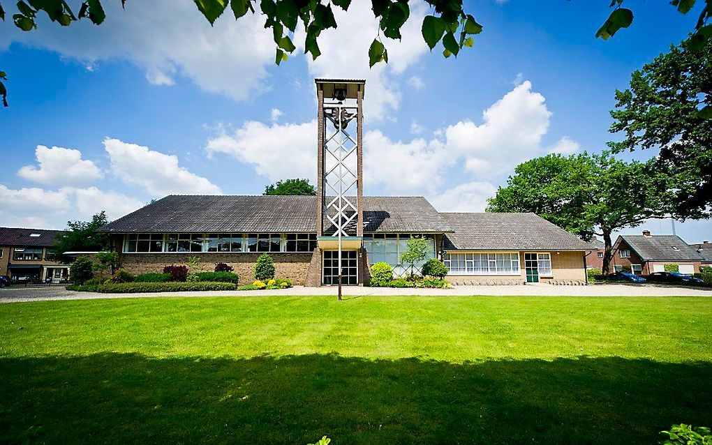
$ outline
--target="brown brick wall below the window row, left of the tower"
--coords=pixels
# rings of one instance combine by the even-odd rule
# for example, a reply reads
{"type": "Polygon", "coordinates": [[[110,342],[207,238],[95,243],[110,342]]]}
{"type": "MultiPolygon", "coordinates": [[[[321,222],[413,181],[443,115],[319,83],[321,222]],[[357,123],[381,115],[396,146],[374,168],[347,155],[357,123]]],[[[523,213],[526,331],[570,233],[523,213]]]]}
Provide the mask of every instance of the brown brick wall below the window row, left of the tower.
{"type": "MultiPolygon", "coordinates": [[[[169,264],[186,264],[188,258],[197,256],[200,263],[197,271],[213,271],[215,263],[226,263],[240,276],[240,284],[252,283],[255,263],[261,253],[122,253],[121,267],[130,273],[161,272],[169,264]]],[[[302,286],[307,276],[313,253],[271,253],[274,259],[275,276],[288,278],[293,284],[302,286]]]]}

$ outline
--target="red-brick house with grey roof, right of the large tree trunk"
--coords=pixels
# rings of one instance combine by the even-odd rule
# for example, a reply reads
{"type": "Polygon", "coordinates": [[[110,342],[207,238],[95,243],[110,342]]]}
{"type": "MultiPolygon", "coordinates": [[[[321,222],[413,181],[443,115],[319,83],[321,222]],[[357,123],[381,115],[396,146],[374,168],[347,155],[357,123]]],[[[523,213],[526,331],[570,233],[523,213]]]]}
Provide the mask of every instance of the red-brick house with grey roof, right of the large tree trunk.
{"type": "Polygon", "coordinates": [[[665,270],[666,264],[677,264],[681,273],[700,270],[701,255],[676,235],[620,235],[614,246],[612,264],[615,271],[630,268],[636,275],[665,270]]]}

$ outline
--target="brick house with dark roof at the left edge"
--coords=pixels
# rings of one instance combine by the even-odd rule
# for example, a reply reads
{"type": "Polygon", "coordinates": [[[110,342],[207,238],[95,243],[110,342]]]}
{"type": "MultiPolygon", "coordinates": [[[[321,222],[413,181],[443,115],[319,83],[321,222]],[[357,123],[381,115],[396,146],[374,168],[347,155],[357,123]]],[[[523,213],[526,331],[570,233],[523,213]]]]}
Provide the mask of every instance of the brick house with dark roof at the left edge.
{"type": "Polygon", "coordinates": [[[49,249],[62,231],[0,227],[0,274],[10,281],[60,282],[69,266],[53,261],[49,249]]]}

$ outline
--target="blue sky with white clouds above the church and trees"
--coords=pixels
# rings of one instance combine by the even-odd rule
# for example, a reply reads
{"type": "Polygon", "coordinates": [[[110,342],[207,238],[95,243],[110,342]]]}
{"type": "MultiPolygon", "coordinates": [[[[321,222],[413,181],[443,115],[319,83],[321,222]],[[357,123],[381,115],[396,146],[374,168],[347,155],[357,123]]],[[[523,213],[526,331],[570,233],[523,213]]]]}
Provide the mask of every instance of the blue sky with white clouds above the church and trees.
{"type": "MultiPolygon", "coordinates": [[[[365,0],[323,33],[316,62],[295,53],[279,67],[259,16],[226,14],[211,28],[190,0],[119,3],[108,2],[101,26],[23,33],[0,23],[11,105],[0,110],[1,225],[63,227],[169,193],[260,194],[276,179],[313,178],[319,76],[367,79],[367,194],[481,211],[519,162],[596,152],[616,138],[607,131],[614,90],[698,14],[627,0],[633,26],[602,41],[605,1],[466,2],[484,31],[445,60],[427,51],[426,9],[412,1],[403,41],[386,42],[390,63],[369,70],[376,24],[365,0]]],[[[643,228],[670,233],[671,223],[624,232],[643,228]]],[[[709,221],[676,229],[689,242],[712,235],[709,221]]]]}

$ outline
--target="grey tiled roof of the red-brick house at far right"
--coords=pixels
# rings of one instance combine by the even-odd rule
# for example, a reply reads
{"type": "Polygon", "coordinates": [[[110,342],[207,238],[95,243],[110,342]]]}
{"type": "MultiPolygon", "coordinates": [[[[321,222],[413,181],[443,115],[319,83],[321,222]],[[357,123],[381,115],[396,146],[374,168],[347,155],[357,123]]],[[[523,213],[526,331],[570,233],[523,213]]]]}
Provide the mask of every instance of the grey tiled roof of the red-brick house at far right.
{"type": "Polygon", "coordinates": [[[621,235],[623,240],[643,261],[701,261],[702,257],[676,235],[621,235]]]}

